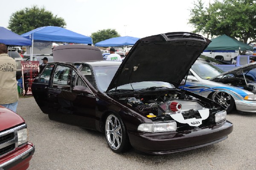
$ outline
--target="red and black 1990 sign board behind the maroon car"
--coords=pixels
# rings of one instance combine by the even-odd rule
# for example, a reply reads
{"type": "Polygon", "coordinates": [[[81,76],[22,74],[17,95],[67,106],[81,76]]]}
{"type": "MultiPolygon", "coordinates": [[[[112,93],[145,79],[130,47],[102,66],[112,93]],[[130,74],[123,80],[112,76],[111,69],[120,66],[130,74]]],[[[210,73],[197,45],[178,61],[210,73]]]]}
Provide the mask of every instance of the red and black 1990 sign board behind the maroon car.
{"type": "Polygon", "coordinates": [[[23,95],[32,95],[31,86],[39,72],[39,61],[21,61],[23,95]]]}

